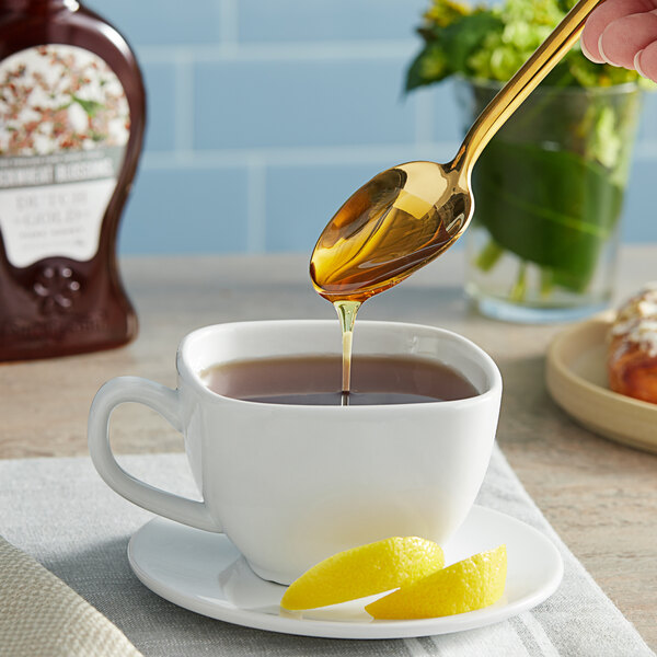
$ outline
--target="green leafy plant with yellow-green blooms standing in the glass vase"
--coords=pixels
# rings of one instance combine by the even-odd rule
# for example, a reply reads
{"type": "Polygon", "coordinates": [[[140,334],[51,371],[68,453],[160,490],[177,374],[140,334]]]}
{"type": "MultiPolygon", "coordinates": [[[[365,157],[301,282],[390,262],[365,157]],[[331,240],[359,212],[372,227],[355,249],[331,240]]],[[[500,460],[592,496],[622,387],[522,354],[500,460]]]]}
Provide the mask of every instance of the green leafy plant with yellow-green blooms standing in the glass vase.
{"type": "MultiPolygon", "coordinates": [[[[406,90],[456,76],[472,83],[481,111],[574,3],[506,0],[469,8],[433,0],[406,90]]],[[[528,293],[528,264],[540,268],[543,299],[555,288],[581,293],[589,286],[598,255],[616,231],[636,124],[638,92],[600,91],[621,84],[632,90],[644,82],[635,71],[589,61],[575,46],[477,162],[474,224],[486,229],[489,242],[474,265],[488,272],[505,253],[514,254],[512,301],[528,293]],[[576,95],[564,97],[567,90],[576,95]]]]}

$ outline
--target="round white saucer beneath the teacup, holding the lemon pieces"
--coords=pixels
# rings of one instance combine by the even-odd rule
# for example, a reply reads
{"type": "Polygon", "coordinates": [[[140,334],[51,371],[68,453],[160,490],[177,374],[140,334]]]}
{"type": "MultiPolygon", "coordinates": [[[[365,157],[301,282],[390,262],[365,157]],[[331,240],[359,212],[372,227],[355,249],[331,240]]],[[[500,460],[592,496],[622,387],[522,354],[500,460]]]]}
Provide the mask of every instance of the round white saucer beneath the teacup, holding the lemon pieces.
{"type": "MultiPolygon", "coordinates": [[[[506,543],[505,595],[495,604],[458,615],[413,621],[374,621],[362,600],[312,613],[279,608],[285,587],[257,577],[223,534],[155,518],[130,539],[135,575],[162,598],[197,613],[272,632],[336,638],[402,638],[472,630],[535,607],[551,596],[563,575],[552,542],[535,529],[475,506],[446,546],[449,565],[506,543]]],[[[368,599],[370,601],[370,599],[368,599]]]]}

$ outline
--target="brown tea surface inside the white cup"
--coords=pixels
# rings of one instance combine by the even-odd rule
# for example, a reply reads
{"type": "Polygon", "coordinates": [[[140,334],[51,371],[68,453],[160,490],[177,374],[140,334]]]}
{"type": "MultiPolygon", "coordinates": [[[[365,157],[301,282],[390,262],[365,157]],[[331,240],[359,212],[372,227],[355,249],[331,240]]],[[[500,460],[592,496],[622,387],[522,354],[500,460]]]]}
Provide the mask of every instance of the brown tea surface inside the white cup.
{"type": "MultiPolygon", "coordinates": [[[[339,406],[342,359],[310,356],[245,360],[201,372],[223,396],[270,404],[339,406]]],[[[422,358],[354,356],[349,405],[417,404],[475,396],[474,385],[453,369],[422,358]]]]}

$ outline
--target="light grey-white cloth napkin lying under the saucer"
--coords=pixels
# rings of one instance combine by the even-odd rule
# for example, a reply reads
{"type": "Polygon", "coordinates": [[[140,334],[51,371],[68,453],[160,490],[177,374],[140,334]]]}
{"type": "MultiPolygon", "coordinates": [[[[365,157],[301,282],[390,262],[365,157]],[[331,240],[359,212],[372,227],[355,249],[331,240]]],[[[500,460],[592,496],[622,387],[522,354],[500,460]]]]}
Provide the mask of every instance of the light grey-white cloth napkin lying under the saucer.
{"type": "MultiPolygon", "coordinates": [[[[120,460],[153,485],[194,493],[184,454],[120,460]]],[[[0,531],[105,614],[146,656],[654,656],[552,530],[498,449],[477,502],[515,516],[555,543],[565,572],[551,598],[505,622],[456,634],[392,641],[311,638],[207,619],[142,586],[128,566],[126,546],[152,516],[111,491],[89,459],[0,461],[0,531]]],[[[15,597],[15,591],[8,592],[15,597]]],[[[1,644],[0,654],[4,655],[1,644]]]]}

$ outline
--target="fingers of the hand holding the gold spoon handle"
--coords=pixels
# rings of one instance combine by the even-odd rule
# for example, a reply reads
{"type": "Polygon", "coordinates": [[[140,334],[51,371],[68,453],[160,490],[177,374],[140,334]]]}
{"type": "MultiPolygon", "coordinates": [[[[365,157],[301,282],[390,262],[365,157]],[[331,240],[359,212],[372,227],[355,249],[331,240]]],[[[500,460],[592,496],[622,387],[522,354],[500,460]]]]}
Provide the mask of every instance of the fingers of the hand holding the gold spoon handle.
{"type": "Polygon", "coordinates": [[[657,0],[607,0],[586,21],[581,51],[657,82],[657,0]]]}

